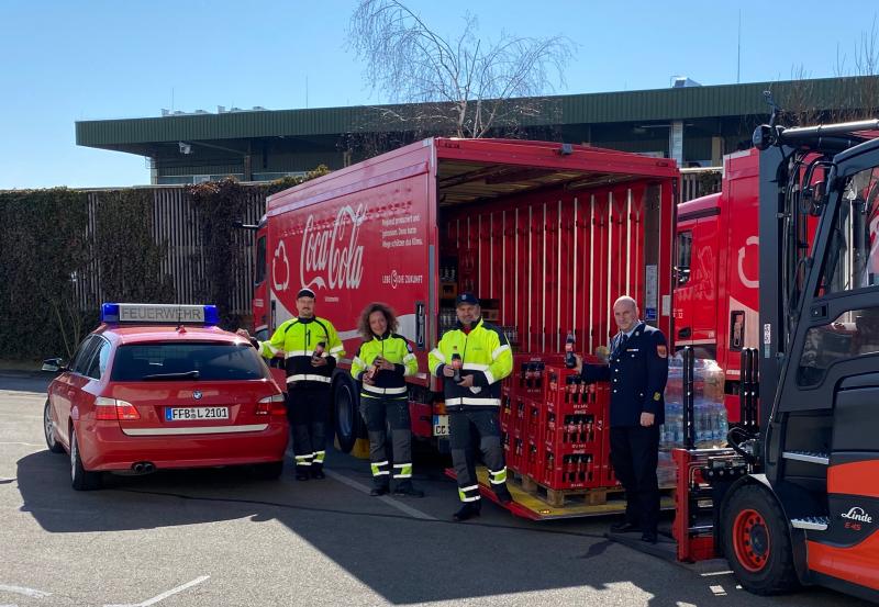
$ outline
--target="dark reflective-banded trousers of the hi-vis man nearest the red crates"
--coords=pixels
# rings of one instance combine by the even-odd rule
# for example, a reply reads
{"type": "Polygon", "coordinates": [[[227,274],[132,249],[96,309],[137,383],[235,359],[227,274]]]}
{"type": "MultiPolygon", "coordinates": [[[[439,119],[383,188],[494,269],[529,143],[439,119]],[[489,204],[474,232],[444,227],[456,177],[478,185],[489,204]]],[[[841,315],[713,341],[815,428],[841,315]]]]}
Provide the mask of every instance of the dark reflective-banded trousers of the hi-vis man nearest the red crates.
{"type": "Polygon", "coordinates": [[[491,488],[496,492],[507,488],[507,465],[503,462],[498,407],[448,412],[448,432],[452,463],[458,479],[458,496],[461,502],[479,501],[474,432],[479,437],[479,450],[488,468],[491,488]]]}

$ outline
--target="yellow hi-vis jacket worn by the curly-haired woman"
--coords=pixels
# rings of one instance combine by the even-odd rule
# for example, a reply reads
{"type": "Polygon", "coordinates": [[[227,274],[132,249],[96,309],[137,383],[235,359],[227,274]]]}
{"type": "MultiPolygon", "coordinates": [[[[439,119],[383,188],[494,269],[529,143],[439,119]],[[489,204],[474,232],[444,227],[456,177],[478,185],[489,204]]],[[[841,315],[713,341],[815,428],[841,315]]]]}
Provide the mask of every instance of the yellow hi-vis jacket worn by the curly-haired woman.
{"type": "Polygon", "coordinates": [[[363,379],[377,356],[392,362],[393,371],[378,371],[374,378],[376,385],[363,384],[360,396],[405,398],[405,378],[419,372],[419,361],[415,360],[412,346],[405,337],[396,333],[372,336],[371,340],[360,344],[351,363],[351,374],[355,380],[363,379]]]}

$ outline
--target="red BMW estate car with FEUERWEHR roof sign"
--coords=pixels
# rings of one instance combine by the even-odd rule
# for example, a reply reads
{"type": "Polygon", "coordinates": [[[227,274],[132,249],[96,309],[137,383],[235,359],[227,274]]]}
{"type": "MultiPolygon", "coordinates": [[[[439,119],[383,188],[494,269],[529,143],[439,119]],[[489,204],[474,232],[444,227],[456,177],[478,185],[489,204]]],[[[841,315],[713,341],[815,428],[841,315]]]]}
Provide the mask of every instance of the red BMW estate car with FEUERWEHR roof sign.
{"type": "Polygon", "coordinates": [[[214,326],[212,305],[103,304],[101,325],[60,371],[44,408],[51,451],[70,454],[75,490],[109,471],[255,464],[277,477],[283,394],[256,350],[214,326]]]}

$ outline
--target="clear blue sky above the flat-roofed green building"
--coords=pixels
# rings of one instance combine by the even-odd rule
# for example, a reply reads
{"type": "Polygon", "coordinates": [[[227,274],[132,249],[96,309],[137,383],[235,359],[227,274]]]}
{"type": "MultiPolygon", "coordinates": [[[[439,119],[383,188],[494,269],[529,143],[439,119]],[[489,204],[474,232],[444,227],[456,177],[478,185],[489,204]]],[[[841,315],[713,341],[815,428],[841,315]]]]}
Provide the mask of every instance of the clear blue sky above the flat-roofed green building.
{"type": "MultiPolygon", "coordinates": [[[[78,120],[158,116],[163,108],[270,110],[381,103],[346,50],[354,0],[0,0],[0,189],[149,182],[144,159],[78,147],[78,120]],[[308,93],[305,81],[308,80],[308,93]]],[[[580,93],[788,79],[802,67],[834,75],[837,48],[850,66],[879,5],[826,2],[795,10],[743,2],[410,0],[437,32],[461,16],[479,33],[567,35],[578,43],[566,70],[580,93]]]]}

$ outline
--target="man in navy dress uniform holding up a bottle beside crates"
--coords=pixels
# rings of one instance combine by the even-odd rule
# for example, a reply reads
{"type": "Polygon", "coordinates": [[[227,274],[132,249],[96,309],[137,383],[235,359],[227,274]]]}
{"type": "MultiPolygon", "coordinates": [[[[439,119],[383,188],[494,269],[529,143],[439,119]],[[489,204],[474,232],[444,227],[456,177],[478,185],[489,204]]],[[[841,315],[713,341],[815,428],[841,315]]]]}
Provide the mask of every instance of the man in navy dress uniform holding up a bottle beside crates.
{"type": "Polygon", "coordinates": [[[613,304],[620,329],[610,342],[608,366],[577,368],[583,381],[609,381],[611,464],[625,488],[625,520],[612,531],[641,531],[641,539],[656,543],[659,519],[659,426],[665,421],[668,345],[663,331],[638,319],[635,300],[623,296],[613,304]]]}

